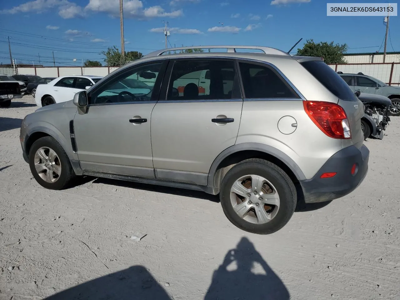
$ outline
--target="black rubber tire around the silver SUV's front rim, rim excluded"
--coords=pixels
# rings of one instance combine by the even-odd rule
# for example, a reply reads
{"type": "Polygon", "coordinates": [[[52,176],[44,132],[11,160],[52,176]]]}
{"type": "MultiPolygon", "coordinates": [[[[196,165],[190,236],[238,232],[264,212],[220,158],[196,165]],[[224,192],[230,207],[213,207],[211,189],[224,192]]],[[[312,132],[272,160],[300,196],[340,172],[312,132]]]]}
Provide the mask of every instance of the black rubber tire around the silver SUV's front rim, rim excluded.
{"type": "Polygon", "coordinates": [[[56,140],[54,140],[54,138],[50,136],[40,138],[32,144],[29,151],[29,167],[36,181],[44,188],[50,190],[62,189],[66,185],[66,183],[70,180],[71,177],[69,158],[66,156],[65,151],[61,147],[61,145],[58,144],[58,142],[56,142],[56,140]],[[58,180],[54,183],[49,183],[44,181],[42,178],[40,178],[38,172],[36,172],[34,158],[36,151],[41,147],[48,147],[54,150],[58,156],[58,159],[60,160],[61,175],[60,178],[58,178],[58,180]]]}

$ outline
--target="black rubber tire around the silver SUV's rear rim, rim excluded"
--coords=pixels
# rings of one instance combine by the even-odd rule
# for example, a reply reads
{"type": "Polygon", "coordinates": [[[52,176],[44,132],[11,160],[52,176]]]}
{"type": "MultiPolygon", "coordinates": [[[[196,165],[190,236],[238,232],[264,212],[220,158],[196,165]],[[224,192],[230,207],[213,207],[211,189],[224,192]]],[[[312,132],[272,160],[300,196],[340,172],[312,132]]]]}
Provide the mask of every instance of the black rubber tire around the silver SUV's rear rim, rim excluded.
{"type": "Polygon", "coordinates": [[[220,201],[226,217],[235,226],[248,232],[256,234],[269,234],[278,231],[290,220],[294,209],[296,208],[296,190],[293,189],[294,185],[291,180],[290,182],[288,182],[288,180],[290,180],[288,176],[285,178],[285,176],[282,176],[276,170],[266,168],[265,166],[257,163],[249,162],[234,166],[222,180],[220,190],[220,201]],[[272,183],[272,185],[274,185],[279,194],[280,207],[278,213],[268,223],[258,225],[245,221],[244,219],[240,218],[238,214],[236,214],[230,202],[230,189],[232,184],[238,178],[250,174],[259,175],[266,178],[272,183]]]}

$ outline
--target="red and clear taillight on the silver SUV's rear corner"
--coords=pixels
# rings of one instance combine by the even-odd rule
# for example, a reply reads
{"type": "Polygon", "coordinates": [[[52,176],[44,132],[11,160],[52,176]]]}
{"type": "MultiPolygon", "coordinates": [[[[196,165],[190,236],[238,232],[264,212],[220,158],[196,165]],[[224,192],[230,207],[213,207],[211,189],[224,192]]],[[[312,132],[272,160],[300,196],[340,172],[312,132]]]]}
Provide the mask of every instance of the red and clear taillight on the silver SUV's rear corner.
{"type": "Polygon", "coordinates": [[[351,138],[349,120],[342,106],[331,102],[303,101],[310,119],[331,138],[351,138]]]}

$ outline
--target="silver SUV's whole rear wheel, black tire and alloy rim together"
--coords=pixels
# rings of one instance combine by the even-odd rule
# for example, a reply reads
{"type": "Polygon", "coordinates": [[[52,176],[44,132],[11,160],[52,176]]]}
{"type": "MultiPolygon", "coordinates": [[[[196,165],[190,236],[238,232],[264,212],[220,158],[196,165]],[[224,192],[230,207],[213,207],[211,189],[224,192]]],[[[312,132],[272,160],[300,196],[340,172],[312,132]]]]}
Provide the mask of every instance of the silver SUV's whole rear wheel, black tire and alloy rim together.
{"type": "MultiPolygon", "coordinates": [[[[256,180],[254,179],[254,183],[256,180]]],[[[255,234],[272,234],[289,222],[296,208],[297,193],[292,180],[281,168],[272,162],[251,158],[236,164],[226,173],[221,183],[220,201],[225,216],[236,227],[255,234]],[[258,179],[261,177],[262,182],[266,184],[262,184],[262,189],[256,189],[257,195],[251,187],[253,180],[249,183],[251,179],[249,175],[254,175],[253,178],[258,179]],[[242,190],[239,194],[245,194],[245,197],[231,191],[234,184],[239,186],[236,191],[242,190]],[[246,190],[248,187],[250,189],[246,190]],[[278,202],[275,202],[278,206],[267,206],[265,201],[269,202],[269,200],[265,198],[268,194],[276,198],[274,193],[277,193],[279,197],[278,202]],[[264,197],[263,200],[261,200],[262,197],[264,197]],[[239,216],[235,209],[239,210],[240,214],[246,213],[243,217],[239,216]],[[264,213],[262,213],[263,210],[264,213]]]]}

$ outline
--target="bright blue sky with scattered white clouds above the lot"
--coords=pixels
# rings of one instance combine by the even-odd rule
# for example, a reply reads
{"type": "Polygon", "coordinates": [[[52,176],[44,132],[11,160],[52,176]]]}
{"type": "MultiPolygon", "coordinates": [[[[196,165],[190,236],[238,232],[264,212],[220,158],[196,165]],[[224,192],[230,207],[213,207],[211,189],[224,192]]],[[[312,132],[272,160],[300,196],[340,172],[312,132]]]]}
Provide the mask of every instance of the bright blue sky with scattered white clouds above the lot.
{"type": "MultiPolygon", "coordinates": [[[[163,20],[171,30],[169,47],[247,44],[288,51],[300,38],[300,47],[313,38],[346,43],[348,52],[375,52],[383,51],[386,29],[381,16],[328,17],[326,2],[319,0],[124,0],[126,51],[164,48],[163,20]]],[[[390,29],[387,51],[400,51],[397,16],[390,18],[390,29]]],[[[38,64],[40,55],[42,64],[52,65],[53,51],[60,66],[103,62],[100,51],[120,48],[119,0],[1,1],[3,64],[10,63],[7,36],[18,62],[38,64]]]]}

